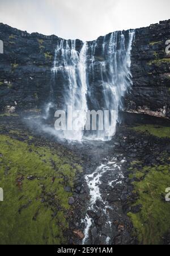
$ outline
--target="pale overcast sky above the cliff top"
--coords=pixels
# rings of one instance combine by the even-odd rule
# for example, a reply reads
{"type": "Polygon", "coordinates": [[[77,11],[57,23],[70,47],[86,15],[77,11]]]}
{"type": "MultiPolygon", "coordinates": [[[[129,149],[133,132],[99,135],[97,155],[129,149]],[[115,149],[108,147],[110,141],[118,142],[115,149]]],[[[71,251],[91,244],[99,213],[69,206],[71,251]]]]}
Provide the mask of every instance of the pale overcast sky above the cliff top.
{"type": "Polygon", "coordinates": [[[170,19],[170,0],[0,0],[0,22],[28,32],[94,40],[170,19]]]}

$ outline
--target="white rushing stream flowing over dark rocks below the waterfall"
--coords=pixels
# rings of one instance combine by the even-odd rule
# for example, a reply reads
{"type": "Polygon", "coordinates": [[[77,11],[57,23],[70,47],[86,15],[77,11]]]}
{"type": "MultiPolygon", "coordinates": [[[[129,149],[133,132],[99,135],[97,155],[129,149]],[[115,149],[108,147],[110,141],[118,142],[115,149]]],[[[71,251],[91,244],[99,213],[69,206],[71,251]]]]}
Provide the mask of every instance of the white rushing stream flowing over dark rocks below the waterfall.
{"type": "Polygon", "coordinates": [[[103,230],[97,232],[97,236],[99,237],[103,235],[103,232],[107,233],[107,237],[103,238],[103,244],[109,244],[111,241],[113,220],[109,212],[112,212],[114,209],[103,199],[103,195],[101,195],[100,192],[100,185],[102,184],[104,174],[108,176],[108,186],[111,187],[111,189],[116,186],[116,184],[121,183],[124,178],[121,171],[121,164],[124,162],[125,160],[118,162],[116,158],[112,158],[111,161],[97,167],[94,173],[86,175],[85,180],[90,191],[90,202],[86,217],[82,220],[85,224],[83,244],[92,244],[89,232],[92,226],[94,227],[96,224],[91,218],[91,215],[100,216],[104,220],[103,230]]]}

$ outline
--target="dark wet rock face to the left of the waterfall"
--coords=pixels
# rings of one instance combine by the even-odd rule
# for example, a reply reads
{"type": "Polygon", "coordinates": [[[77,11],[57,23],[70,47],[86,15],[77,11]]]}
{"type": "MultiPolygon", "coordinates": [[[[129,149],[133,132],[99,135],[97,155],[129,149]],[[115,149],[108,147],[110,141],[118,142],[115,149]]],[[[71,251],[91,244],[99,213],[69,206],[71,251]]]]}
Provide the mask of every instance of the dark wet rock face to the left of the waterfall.
{"type": "MultiPolygon", "coordinates": [[[[58,40],[57,36],[27,33],[0,23],[0,110],[15,106],[17,110],[42,108],[50,100],[51,68],[58,40]]],[[[79,40],[77,47],[80,47],[79,40]]],[[[61,79],[61,78],[60,78],[61,79]]],[[[54,94],[61,94],[57,86],[54,94]]]]}

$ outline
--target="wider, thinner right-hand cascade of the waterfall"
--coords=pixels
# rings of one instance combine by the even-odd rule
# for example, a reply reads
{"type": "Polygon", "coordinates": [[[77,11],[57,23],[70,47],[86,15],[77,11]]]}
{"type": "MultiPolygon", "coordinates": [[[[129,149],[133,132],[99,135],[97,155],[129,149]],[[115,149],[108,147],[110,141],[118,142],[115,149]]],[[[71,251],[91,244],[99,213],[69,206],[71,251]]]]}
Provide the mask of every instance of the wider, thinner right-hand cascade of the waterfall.
{"type": "MultiPolygon", "coordinates": [[[[118,110],[122,108],[122,98],[132,85],[130,53],[133,38],[134,31],[129,31],[128,39],[125,39],[125,35],[122,32],[113,32],[109,38],[108,36],[104,37],[101,47],[100,44],[99,46],[97,45],[96,41],[91,44],[91,60],[88,74],[92,72],[91,81],[94,81],[91,83],[97,87],[98,82],[101,87],[100,99],[96,99],[95,94],[97,94],[97,91],[95,89],[94,94],[90,95],[93,99],[95,98],[92,106],[114,111],[112,123],[111,125],[108,124],[108,136],[107,133],[98,131],[95,134],[96,139],[108,140],[116,133],[118,110]],[[97,54],[100,54],[100,58],[97,58],[97,54]],[[95,61],[95,58],[97,58],[97,61],[95,61]],[[98,74],[97,79],[96,74],[98,74]]],[[[91,88],[91,86],[89,87],[91,88]]]]}

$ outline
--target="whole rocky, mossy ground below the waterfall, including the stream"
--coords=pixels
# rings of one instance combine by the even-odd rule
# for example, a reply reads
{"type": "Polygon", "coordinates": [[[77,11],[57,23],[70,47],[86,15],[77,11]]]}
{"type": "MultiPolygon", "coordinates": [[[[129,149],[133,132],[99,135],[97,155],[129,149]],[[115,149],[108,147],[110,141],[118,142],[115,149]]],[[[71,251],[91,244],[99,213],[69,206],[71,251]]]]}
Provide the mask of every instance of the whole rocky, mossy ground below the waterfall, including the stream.
{"type": "Polygon", "coordinates": [[[168,122],[68,144],[21,116],[0,118],[2,244],[169,244],[168,122]]]}

